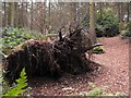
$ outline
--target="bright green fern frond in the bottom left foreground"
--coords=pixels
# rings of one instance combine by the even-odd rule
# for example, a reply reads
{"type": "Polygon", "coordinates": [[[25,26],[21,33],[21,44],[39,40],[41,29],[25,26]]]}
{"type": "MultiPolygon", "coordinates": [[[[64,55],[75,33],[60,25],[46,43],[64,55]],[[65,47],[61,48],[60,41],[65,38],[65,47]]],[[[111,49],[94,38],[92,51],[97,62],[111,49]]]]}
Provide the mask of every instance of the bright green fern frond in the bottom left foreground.
{"type": "Polygon", "coordinates": [[[19,96],[20,94],[24,93],[26,90],[27,86],[27,76],[25,73],[25,69],[22,70],[20,74],[20,78],[16,79],[16,86],[11,88],[5,95],[3,96],[19,96]]]}

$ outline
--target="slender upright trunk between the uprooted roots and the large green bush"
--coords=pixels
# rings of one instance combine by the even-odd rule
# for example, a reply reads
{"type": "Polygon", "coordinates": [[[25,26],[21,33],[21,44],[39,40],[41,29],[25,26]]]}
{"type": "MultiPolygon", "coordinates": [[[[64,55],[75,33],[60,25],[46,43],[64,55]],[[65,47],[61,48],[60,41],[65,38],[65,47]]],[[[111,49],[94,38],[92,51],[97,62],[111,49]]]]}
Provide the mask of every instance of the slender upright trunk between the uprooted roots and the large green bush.
{"type": "Polygon", "coordinates": [[[90,3],[90,34],[92,44],[96,44],[96,34],[95,34],[95,3],[90,3]]]}

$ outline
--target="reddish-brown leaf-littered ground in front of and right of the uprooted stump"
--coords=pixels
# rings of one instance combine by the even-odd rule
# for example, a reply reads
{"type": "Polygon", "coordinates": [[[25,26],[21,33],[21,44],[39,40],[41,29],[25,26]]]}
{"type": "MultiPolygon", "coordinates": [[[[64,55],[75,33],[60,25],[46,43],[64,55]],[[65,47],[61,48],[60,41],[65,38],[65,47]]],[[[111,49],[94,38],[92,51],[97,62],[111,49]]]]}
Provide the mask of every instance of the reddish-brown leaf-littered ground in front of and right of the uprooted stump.
{"type": "Polygon", "coordinates": [[[35,77],[29,85],[33,96],[73,96],[88,91],[88,82],[104,88],[107,94],[129,93],[129,44],[120,37],[100,38],[106,51],[94,54],[97,71],[80,75],[64,74],[59,81],[35,77]]]}

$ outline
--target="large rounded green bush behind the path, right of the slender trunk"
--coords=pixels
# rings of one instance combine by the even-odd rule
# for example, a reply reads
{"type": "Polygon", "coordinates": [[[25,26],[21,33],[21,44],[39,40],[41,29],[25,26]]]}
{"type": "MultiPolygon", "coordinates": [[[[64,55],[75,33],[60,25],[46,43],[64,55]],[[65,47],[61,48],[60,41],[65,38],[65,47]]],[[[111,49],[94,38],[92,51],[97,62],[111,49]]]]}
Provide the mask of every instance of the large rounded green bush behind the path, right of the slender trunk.
{"type": "Polygon", "coordinates": [[[112,9],[105,9],[100,16],[99,11],[96,13],[96,35],[97,37],[112,37],[119,34],[118,19],[112,9]]]}

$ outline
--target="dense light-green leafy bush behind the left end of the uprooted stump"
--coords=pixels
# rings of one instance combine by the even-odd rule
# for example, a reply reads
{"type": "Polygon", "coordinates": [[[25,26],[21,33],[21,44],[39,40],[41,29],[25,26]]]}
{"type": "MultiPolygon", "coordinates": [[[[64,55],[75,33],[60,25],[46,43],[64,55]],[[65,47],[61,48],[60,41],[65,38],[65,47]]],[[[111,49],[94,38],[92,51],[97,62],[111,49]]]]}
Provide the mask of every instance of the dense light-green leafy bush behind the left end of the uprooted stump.
{"type": "Polygon", "coordinates": [[[0,45],[3,53],[10,53],[11,49],[13,49],[15,46],[31,38],[35,38],[35,35],[28,29],[12,27],[3,28],[2,38],[0,39],[2,40],[0,45]]]}

